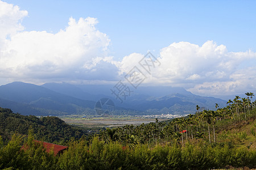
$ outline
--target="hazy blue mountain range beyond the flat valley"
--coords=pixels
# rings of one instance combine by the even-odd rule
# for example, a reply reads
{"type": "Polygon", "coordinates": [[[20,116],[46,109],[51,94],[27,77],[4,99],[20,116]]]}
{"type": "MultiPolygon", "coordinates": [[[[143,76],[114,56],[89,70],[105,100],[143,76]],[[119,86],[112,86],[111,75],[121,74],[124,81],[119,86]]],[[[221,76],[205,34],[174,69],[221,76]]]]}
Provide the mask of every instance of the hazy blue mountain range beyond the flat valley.
{"type": "Polygon", "coordinates": [[[184,88],[168,86],[139,87],[123,102],[112,94],[113,85],[74,85],[46,83],[38,86],[13,82],[0,86],[0,107],[11,108],[20,114],[54,115],[96,114],[94,107],[102,98],[115,105],[114,114],[189,114],[196,112],[196,105],[205,109],[220,107],[226,101],[215,97],[194,95],[184,88]]]}

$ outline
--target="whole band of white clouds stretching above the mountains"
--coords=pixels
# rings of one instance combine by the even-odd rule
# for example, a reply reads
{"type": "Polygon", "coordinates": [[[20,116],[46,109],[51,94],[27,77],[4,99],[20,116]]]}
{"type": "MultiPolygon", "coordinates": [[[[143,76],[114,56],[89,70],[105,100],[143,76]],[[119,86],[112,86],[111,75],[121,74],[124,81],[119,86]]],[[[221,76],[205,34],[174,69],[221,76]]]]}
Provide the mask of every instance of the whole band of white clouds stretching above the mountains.
{"type": "MultiPolygon", "coordinates": [[[[110,38],[96,29],[96,18],[70,18],[66,28],[48,33],[24,31],[21,23],[27,15],[18,6],[0,1],[1,79],[117,82],[144,56],[131,53],[121,61],[109,56],[110,38]]],[[[228,52],[225,45],[213,41],[201,46],[174,42],[160,50],[158,61],[161,65],[147,75],[144,85],[184,87],[200,95],[256,90],[256,53],[250,50],[228,52]]]]}

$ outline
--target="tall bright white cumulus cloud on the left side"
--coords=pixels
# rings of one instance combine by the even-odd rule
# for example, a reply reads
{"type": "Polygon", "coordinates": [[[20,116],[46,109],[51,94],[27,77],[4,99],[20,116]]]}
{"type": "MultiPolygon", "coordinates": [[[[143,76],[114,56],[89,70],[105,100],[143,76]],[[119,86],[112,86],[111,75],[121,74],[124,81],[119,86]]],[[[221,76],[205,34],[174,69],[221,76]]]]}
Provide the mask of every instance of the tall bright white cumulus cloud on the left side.
{"type": "Polygon", "coordinates": [[[86,73],[92,72],[94,79],[105,79],[100,75],[106,71],[114,71],[110,74],[113,75],[112,79],[116,76],[116,66],[106,59],[94,63],[95,66],[90,68],[93,70],[88,71],[84,67],[97,57],[108,56],[110,39],[94,27],[98,23],[96,18],[80,18],[78,21],[70,18],[68,26],[57,33],[28,32],[23,31],[20,24],[27,11],[20,11],[18,6],[5,2],[0,3],[0,23],[5,25],[0,27],[3,44],[0,49],[1,77],[87,79],[86,73]]]}

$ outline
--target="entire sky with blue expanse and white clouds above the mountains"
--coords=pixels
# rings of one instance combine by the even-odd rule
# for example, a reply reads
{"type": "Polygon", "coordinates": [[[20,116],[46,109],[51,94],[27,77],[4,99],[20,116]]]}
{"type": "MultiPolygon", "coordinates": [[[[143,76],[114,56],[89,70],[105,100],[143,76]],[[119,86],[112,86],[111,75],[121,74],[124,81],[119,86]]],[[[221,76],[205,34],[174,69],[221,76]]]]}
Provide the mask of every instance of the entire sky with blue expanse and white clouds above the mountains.
{"type": "Polygon", "coordinates": [[[115,84],[256,92],[256,1],[0,0],[0,85],[115,84]],[[150,73],[141,59],[150,52],[150,73]],[[141,71],[141,72],[140,72],[141,71]]]}

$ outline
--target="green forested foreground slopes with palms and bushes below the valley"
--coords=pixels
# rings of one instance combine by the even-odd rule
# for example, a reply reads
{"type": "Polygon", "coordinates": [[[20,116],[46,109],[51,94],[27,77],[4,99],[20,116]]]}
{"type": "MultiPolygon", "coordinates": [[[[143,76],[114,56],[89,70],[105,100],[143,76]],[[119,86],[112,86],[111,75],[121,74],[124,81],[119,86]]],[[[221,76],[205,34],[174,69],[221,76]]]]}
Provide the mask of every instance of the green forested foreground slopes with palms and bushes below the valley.
{"type": "Polygon", "coordinates": [[[216,103],[215,111],[200,111],[197,105],[197,112],[186,117],[164,122],[156,119],[155,123],[105,129],[89,136],[55,117],[23,117],[1,108],[1,135],[5,138],[0,140],[0,168],[256,168],[256,102],[253,93],[246,95],[245,98],[236,96],[229,100],[225,108],[219,108],[216,103]],[[20,120],[9,125],[3,121],[8,115],[20,120]],[[63,129],[65,126],[68,128],[63,129]],[[56,138],[43,138],[50,133],[46,127],[52,129],[56,138]],[[61,133],[68,129],[70,133],[61,133]],[[39,131],[44,133],[39,135],[39,131]],[[12,134],[12,137],[6,134],[12,134]],[[55,156],[53,151],[46,152],[42,143],[34,139],[65,143],[68,150],[55,156]],[[27,149],[22,149],[22,146],[27,146],[27,149]]]}

